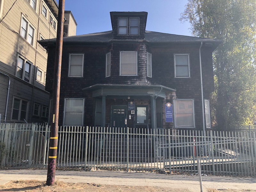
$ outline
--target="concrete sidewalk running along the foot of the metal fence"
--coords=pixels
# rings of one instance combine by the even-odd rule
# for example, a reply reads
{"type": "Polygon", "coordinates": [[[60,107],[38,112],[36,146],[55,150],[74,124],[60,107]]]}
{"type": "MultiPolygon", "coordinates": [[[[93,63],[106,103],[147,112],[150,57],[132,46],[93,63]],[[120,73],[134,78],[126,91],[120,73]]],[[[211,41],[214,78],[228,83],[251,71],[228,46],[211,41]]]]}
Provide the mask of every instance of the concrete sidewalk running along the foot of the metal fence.
{"type": "MultiPolygon", "coordinates": [[[[47,170],[0,170],[0,185],[10,180],[46,181],[47,170]]],[[[140,172],[110,171],[56,171],[55,181],[71,183],[95,183],[102,185],[156,186],[200,191],[199,176],[164,175],[140,172]]],[[[203,176],[203,189],[256,190],[256,178],[203,176]]]]}

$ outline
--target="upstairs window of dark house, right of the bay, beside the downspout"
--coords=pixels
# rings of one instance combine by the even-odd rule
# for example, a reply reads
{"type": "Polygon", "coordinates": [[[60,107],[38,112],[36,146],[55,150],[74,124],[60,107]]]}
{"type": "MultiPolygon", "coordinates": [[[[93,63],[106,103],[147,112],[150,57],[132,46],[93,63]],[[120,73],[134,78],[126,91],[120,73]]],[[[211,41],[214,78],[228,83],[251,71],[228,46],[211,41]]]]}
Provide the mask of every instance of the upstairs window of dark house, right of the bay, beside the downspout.
{"type": "Polygon", "coordinates": [[[175,77],[190,77],[189,54],[174,54],[175,77]]]}

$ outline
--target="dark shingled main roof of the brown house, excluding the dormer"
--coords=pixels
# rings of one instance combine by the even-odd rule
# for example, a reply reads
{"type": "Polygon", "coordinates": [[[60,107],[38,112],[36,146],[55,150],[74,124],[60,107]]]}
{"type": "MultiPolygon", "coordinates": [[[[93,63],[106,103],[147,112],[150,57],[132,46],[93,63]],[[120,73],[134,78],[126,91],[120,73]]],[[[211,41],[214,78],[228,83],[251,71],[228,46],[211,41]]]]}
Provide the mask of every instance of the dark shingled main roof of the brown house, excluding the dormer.
{"type": "MultiPolygon", "coordinates": [[[[38,41],[40,44],[56,42],[55,39],[45,39],[38,41]]],[[[154,31],[145,31],[144,40],[134,39],[113,39],[112,31],[105,31],[100,33],[91,33],[85,35],[63,37],[63,43],[110,43],[110,42],[148,42],[148,43],[192,43],[192,42],[205,42],[220,44],[222,41],[217,39],[207,39],[193,36],[174,35],[168,33],[160,33],[154,31]]]]}

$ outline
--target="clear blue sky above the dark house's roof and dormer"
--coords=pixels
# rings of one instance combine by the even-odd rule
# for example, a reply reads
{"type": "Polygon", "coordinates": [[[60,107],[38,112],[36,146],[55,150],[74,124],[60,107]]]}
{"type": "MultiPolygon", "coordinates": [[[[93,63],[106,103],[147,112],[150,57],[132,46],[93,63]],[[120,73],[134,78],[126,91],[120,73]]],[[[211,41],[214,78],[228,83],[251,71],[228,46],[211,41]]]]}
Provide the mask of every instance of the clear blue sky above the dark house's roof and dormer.
{"type": "Polygon", "coordinates": [[[65,0],[65,10],[75,17],[76,35],[112,30],[111,11],[145,11],[146,30],[191,36],[190,24],[179,21],[186,3],[187,0],[65,0]]]}

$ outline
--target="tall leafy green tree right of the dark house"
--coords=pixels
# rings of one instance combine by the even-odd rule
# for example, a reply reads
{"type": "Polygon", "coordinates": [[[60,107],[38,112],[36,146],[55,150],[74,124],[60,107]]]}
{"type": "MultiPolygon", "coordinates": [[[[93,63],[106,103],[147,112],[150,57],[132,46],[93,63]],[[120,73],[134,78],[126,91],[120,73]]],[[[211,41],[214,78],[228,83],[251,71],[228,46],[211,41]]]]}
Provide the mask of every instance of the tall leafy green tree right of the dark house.
{"type": "Polygon", "coordinates": [[[223,128],[251,124],[256,114],[256,1],[188,0],[180,20],[190,22],[194,36],[223,41],[213,53],[213,122],[223,128]]]}

